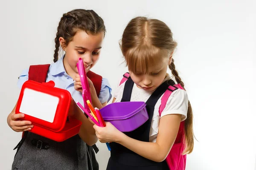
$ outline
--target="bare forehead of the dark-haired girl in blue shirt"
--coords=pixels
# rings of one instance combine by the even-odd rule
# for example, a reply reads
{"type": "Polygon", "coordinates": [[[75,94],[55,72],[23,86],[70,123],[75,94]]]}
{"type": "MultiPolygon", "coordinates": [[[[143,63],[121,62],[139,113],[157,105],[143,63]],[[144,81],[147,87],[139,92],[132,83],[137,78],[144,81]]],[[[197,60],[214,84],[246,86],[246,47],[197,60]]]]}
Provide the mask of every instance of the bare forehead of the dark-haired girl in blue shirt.
{"type": "Polygon", "coordinates": [[[77,31],[73,37],[74,46],[82,46],[84,48],[94,49],[99,48],[102,45],[104,33],[100,32],[95,35],[87,34],[85,31],[77,31]]]}

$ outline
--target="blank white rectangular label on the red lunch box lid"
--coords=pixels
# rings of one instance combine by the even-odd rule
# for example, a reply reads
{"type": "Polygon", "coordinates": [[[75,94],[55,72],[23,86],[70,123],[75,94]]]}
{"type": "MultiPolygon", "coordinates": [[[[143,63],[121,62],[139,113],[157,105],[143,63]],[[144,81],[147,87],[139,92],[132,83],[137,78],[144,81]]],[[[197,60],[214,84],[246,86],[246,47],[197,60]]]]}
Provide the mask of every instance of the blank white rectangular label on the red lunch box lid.
{"type": "Polygon", "coordinates": [[[53,122],[59,98],[29,88],[24,89],[20,113],[53,122]]]}

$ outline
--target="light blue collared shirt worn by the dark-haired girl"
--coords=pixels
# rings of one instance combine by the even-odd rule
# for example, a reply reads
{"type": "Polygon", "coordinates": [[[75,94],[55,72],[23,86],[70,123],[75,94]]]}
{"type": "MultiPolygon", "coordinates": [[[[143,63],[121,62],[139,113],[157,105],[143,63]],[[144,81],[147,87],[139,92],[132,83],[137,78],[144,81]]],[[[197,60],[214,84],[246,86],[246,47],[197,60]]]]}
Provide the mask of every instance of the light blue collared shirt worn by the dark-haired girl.
{"type": "MultiPolygon", "coordinates": [[[[28,79],[29,68],[23,70],[23,72],[20,74],[17,86],[21,88],[23,83],[26,82],[28,79]]],[[[55,82],[55,87],[69,91],[75,101],[79,101],[81,105],[84,105],[81,92],[75,90],[74,80],[69,75],[67,75],[64,69],[63,57],[61,57],[61,59],[59,59],[57,62],[50,65],[46,82],[49,82],[50,80],[55,82]]],[[[112,97],[111,91],[112,89],[110,88],[108,79],[102,78],[99,101],[101,103],[108,102],[112,97]]]]}

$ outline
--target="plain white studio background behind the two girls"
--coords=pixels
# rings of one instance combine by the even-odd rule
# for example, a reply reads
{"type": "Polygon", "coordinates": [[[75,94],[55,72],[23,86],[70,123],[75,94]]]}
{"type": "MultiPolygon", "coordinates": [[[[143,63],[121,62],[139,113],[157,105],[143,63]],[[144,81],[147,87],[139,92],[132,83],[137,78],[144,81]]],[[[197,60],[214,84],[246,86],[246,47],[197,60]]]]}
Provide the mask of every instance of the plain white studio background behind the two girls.
{"type": "MultiPolygon", "coordinates": [[[[198,139],[187,170],[253,170],[256,166],[255,0],[1,0],[0,169],[11,169],[21,133],[6,117],[19,96],[17,77],[29,65],[52,63],[54,38],[63,13],[95,10],[105,21],[102,54],[92,69],[113,90],[126,71],[118,41],[129,20],[163,20],[177,41],[174,59],[194,111],[198,139]]],[[[104,170],[109,152],[98,144],[104,170]]]]}

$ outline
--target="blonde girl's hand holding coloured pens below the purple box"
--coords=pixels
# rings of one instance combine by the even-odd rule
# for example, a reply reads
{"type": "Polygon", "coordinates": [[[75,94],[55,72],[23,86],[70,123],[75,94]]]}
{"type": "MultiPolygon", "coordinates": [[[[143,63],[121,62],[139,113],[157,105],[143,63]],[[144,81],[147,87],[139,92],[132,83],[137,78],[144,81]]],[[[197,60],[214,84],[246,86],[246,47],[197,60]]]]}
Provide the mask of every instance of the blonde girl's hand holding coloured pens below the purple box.
{"type": "Polygon", "coordinates": [[[116,127],[114,127],[110,122],[106,122],[106,127],[99,127],[97,125],[93,125],[95,129],[96,136],[101,143],[107,142],[118,142],[119,137],[123,134],[116,127]]]}

